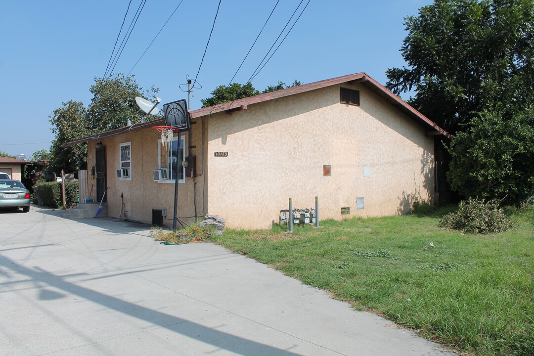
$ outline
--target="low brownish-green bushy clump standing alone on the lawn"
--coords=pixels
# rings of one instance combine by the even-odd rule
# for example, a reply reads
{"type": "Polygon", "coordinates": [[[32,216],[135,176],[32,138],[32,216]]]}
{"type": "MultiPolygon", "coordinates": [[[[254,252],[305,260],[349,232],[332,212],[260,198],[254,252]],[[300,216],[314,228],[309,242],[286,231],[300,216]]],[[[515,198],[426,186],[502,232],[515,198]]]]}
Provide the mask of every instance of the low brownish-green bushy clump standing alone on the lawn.
{"type": "Polygon", "coordinates": [[[512,226],[496,200],[469,199],[458,204],[458,210],[445,215],[438,226],[470,234],[500,233],[512,226]]]}

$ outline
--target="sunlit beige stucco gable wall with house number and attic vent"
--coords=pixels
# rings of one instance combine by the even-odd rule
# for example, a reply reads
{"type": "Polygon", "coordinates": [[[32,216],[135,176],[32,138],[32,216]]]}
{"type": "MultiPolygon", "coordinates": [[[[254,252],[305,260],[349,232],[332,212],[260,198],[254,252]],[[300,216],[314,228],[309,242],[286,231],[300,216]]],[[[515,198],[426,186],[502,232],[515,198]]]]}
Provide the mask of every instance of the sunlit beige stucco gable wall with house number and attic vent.
{"type": "Polygon", "coordinates": [[[320,219],[395,215],[432,200],[433,137],[364,86],[342,86],[360,90],[360,106],[340,104],[335,85],[207,117],[208,213],[229,227],[269,228],[289,197],[312,208],[318,195],[320,219]]]}

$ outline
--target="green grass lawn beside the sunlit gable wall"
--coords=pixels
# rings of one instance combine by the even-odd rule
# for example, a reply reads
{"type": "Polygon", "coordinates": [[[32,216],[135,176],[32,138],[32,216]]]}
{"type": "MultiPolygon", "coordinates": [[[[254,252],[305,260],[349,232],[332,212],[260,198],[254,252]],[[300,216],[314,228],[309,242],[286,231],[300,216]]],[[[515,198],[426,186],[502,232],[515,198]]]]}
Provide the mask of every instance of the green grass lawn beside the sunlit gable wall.
{"type": "Polygon", "coordinates": [[[516,228],[490,235],[438,228],[446,212],[211,240],[456,350],[534,354],[534,209],[512,212],[516,228]]]}

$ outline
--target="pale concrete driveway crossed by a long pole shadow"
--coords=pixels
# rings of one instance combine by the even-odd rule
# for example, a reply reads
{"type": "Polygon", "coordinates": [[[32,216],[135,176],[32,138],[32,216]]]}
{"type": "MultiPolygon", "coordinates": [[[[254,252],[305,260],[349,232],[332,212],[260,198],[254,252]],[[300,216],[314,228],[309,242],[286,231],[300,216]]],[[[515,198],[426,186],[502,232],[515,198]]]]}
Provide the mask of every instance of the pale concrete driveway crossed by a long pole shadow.
{"type": "Polygon", "coordinates": [[[3,355],[453,355],[212,243],[0,211],[3,355]]]}

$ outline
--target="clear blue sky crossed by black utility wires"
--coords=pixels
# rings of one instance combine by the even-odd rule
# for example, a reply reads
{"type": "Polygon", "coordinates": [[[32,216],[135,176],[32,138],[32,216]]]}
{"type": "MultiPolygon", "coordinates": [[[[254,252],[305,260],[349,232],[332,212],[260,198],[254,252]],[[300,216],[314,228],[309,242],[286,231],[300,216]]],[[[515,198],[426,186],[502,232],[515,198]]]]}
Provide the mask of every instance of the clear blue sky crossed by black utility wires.
{"type": "MultiPolygon", "coordinates": [[[[124,29],[140,1],[132,0],[124,29]]],[[[198,76],[202,89],[194,89],[192,109],[200,108],[200,99],[209,97],[216,86],[229,83],[276,2],[222,0],[198,76]]],[[[71,99],[89,104],[89,88],[95,76],[104,75],[128,3],[0,1],[0,151],[29,157],[39,149],[49,149],[53,110],[71,99]]],[[[147,0],[114,73],[132,70],[178,3],[147,0]]],[[[233,82],[248,80],[299,3],[280,0],[233,82]]],[[[405,65],[399,52],[406,36],[404,17],[417,15],[419,7],[430,3],[311,0],[252,84],[263,90],[278,81],[311,83],[358,72],[385,84],[388,68],[405,65]]],[[[163,103],[187,98],[179,84],[186,82],[186,75],[194,78],[197,74],[217,4],[218,0],[183,0],[132,70],[140,86],[160,89],[163,103]]]]}

